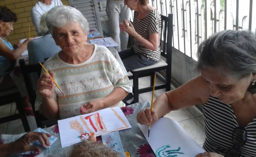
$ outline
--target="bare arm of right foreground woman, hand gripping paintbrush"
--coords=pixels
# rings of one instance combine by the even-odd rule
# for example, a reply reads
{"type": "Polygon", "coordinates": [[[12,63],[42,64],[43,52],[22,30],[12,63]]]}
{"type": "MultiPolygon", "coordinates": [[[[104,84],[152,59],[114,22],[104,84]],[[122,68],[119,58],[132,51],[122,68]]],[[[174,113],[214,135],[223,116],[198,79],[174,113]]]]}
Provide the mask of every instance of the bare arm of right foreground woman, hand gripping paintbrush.
{"type": "Polygon", "coordinates": [[[159,117],[162,117],[172,110],[196,105],[197,103],[206,103],[210,96],[210,88],[201,76],[191,79],[186,84],[172,91],[161,94],[154,101],[154,111],[145,108],[137,115],[137,121],[141,124],[148,124],[149,120],[156,123],[159,117]]]}

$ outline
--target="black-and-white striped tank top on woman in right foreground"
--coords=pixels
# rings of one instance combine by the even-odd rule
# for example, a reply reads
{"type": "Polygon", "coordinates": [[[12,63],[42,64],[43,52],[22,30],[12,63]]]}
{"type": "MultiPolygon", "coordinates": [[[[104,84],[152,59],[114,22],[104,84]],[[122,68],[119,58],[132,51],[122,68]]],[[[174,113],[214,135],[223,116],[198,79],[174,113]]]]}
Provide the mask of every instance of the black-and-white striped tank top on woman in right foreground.
{"type": "MultiPolygon", "coordinates": [[[[210,96],[203,105],[204,130],[206,138],[203,148],[207,152],[225,155],[233,147],[232,133],[239,127],[236,116],[229,104],[210,96]]],[[[242,156],[256,157],[256,118],[246,125],[247,140],[242,150],[242,156]]]]}

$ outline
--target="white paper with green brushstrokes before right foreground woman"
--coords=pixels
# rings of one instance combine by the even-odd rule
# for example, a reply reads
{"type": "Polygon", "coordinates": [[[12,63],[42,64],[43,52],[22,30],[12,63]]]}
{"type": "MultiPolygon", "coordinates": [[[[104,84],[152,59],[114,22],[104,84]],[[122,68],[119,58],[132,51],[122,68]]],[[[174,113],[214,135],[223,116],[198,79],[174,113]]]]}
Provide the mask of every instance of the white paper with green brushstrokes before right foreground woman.
{"type": "Polygon", "coordinates": [[[205,152],[180,124],[172,119],[159,118],[158,122],[150,127],[149,138],[148,125],[138,125],[157,157],[165,155],[192,157],[205,152]]]}

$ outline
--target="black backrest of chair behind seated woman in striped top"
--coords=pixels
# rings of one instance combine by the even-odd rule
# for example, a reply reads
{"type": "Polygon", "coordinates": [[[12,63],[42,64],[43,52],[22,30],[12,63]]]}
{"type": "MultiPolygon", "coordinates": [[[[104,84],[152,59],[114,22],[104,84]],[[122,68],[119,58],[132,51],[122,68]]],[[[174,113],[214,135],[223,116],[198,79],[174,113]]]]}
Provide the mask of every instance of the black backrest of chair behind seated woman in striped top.
{"type": "Polygon", "coordinates": [[[166,62],[172,61],[172,14],[168,16],[161,15],[161,36],[160,41],[161,56],[166,58],[166,62]]]}

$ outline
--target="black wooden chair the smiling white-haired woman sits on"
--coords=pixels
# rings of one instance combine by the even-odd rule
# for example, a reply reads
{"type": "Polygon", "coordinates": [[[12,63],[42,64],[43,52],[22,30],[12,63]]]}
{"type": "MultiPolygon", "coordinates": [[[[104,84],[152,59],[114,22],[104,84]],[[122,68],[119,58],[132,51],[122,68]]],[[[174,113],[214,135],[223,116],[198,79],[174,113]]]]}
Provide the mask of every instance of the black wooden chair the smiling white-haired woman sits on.
{"type": "Polygon", "coordinates": [[[49,120],[40,114],[38,110],[35,110],[36,102],[36,86],[35,83],[40,77],[42,67],[38,64],[26,64],[24,59],[20,59],[20,69],[25,80],[26,88],[28,90],[28,96],[33,108],[33,112],[36,119],[37,127],[44,128],[45,126],[50,126],[57,124],[57,120],[49,120]],[[35,72],[37,75],[35,75],[35,72]]]}

